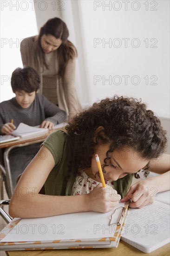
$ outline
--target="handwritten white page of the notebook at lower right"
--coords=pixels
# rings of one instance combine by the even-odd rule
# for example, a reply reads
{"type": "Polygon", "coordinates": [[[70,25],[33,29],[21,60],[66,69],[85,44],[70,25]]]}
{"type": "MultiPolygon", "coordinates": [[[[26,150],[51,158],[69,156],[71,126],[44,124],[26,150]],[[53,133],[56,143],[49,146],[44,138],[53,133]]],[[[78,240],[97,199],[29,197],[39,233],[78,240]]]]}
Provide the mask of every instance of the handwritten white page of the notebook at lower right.
{"type": "Polygon", "coordinates": [[[151,246],[170,234],[170,207],[154,202],[142,209],[130,209],[122,236],[134,243],[151,246]]]}

